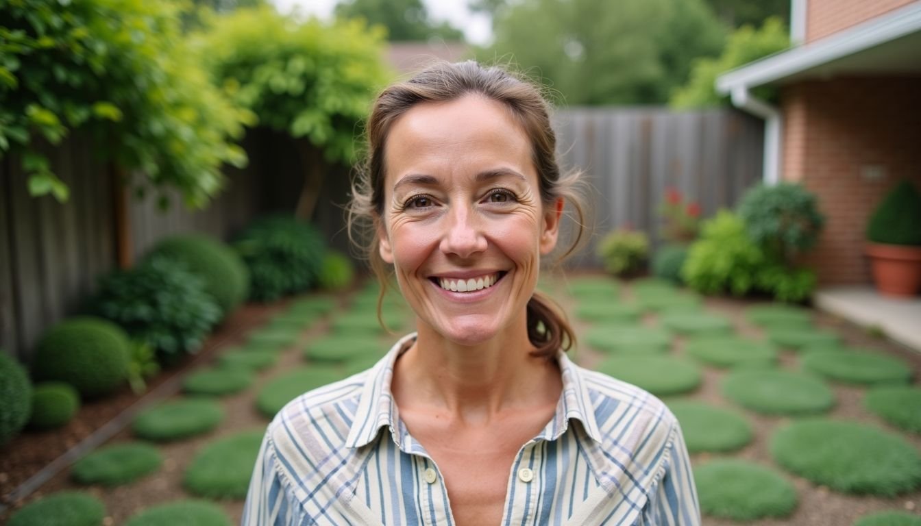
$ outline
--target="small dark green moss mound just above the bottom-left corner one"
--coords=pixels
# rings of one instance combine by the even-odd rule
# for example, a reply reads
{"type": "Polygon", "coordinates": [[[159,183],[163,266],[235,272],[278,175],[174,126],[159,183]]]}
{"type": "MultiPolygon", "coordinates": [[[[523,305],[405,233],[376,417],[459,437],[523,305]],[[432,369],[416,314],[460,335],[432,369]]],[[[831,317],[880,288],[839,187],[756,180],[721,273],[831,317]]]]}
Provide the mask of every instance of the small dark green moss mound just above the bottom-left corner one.
{"type": "Polygon", "coordinates": [[[74,463],[70,475],[79,484],[125,485],[156,472],[162,463],[154,446],[124,442],[89,453],[74,463]]]}

